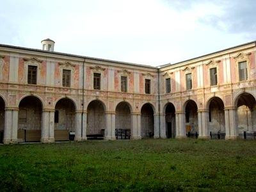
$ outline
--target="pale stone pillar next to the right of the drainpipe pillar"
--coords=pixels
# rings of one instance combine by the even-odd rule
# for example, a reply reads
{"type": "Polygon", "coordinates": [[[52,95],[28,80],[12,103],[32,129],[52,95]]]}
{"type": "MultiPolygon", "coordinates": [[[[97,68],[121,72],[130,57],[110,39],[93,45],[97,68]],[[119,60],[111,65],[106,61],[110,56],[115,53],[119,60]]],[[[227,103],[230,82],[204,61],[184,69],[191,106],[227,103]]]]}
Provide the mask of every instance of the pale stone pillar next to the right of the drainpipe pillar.
{"type": "Polygon", "coordinates": [[[106,129],[105,129],[105,140],[116,140],[115,129],[116,129],[116,113],[113,111],[106,112],[106,129]]]}

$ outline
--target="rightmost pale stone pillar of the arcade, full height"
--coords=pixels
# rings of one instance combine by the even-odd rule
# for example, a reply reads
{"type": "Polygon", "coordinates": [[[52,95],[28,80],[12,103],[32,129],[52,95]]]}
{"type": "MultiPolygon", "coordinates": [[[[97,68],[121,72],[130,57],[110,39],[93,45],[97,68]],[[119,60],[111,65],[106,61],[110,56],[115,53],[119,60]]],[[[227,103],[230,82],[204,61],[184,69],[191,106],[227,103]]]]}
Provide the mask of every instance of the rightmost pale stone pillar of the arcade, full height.
{"type": "Polygon", "coordinates": [[[225,110],[225,127],[226,127],[225,140],[236,140],[238,138],[237,109],[225,108],[224,110],[225,110]]]}

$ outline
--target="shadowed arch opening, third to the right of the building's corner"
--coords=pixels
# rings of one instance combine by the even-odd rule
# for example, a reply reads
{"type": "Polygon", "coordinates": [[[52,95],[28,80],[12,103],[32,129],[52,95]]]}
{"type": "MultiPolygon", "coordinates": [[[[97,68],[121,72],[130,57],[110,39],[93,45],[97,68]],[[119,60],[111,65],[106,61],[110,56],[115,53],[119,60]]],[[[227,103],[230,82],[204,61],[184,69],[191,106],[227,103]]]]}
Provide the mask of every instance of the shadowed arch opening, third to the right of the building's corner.
{"type": "Polygon", "coordinates": [[[225,111],[224,102],[220,97],[214,96],[207,100],[207,134],[212,139],[225,139],[225,111]],[[208,133],[209,132],[209,133],[208,133]]]}

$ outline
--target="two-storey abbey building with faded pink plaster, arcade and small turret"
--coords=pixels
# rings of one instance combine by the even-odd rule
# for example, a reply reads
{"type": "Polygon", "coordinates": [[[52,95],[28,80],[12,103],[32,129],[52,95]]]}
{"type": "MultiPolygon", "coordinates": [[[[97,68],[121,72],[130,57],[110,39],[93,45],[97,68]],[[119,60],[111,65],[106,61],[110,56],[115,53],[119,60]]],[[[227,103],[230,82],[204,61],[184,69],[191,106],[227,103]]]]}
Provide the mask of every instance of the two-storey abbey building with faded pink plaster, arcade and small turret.
{"type": "Polygon", "coordinates": [[[150,67],[0,45],[0,141],[255,137],[256,42],[150,67]]]}

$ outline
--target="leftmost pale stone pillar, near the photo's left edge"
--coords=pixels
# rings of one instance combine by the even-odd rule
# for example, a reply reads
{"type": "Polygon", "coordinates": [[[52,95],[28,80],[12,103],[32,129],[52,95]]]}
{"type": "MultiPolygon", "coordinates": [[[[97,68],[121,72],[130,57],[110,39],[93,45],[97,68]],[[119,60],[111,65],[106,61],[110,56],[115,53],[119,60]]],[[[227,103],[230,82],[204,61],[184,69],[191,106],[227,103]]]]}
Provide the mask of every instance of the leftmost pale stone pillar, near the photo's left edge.
{"type": "Polygon", "coordinates": [[[4,144],[17,143],[19,108],[6,108],[4,114],[4,144]]]}

